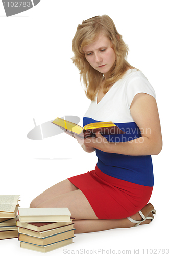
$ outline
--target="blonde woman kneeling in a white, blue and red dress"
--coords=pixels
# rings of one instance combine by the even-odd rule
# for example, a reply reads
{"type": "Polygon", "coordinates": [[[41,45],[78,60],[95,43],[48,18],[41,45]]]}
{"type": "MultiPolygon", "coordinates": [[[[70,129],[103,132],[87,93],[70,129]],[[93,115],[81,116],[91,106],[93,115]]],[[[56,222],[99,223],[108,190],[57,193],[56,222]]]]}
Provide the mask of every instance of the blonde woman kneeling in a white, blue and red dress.
{"type": "Polygon", "coordinates": [[[154,89],[126,61],[128,47],[107,15],[78,25],[72,49],[91,99],[83,125],[112,121],[125,134],[77,136],[85,151],[96,151],[95,170],[52,186],[30,207],[67,207],[76,233],[150,223],[155,213],[147,204],[154,184],[151,155],[162,148],[154,89]]]}

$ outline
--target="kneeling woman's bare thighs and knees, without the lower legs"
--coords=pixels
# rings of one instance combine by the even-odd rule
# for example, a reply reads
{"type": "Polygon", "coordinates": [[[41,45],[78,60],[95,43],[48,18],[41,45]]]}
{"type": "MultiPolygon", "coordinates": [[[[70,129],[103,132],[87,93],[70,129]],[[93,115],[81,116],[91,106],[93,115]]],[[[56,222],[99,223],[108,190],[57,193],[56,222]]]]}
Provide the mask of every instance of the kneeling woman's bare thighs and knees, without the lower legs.
{"type": "Polygon", "coordinates": [[[32,208],[68,208],[75,219],[97,219],[83,192],[69,180],[48,188],[30,204],[32,208]]]}

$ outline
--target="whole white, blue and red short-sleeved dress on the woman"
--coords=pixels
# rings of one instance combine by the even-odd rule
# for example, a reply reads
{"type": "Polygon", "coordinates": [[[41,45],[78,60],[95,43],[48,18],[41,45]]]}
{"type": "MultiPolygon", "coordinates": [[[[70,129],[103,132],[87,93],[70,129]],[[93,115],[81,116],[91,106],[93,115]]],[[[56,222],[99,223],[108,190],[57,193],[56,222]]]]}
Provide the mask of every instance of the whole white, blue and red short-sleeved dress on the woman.
{"type": "MultiPolygon", "coordinates": [[[[102,100],[91,101],[83,118],[83,126],[92,122],[112,121],[125,134],[104,135],[113,143],[141,137],[130,105],[138,93],[155,97],[155,92],[143,73],[128,70],[105,94],[102,100]]],[[[147,129],[150,133],[150,129],[147,129]]],[[[153,185],[151,156],[131,156],[96,150],[95,170],[68,178],[88,199],[99,219],[122,219],[141,210],[149,201],[153,185]]]]}

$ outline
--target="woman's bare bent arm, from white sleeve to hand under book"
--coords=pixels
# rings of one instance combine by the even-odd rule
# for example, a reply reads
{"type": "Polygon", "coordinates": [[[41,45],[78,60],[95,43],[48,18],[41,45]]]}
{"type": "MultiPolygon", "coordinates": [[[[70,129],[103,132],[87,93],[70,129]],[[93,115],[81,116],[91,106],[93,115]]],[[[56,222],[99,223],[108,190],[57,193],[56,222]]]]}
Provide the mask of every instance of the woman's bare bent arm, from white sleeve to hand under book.
{"type": "Polygon", "coordinates": [[[145,93],[135,95],[130,111],[142,137],[127,142],[113,143],[108,142],[100,133],[96,133],[97,138],[85,139],[84,145],[104,152],[124,155],[159,154],[162,149],[162,136],[155,98],[145,93]]]}

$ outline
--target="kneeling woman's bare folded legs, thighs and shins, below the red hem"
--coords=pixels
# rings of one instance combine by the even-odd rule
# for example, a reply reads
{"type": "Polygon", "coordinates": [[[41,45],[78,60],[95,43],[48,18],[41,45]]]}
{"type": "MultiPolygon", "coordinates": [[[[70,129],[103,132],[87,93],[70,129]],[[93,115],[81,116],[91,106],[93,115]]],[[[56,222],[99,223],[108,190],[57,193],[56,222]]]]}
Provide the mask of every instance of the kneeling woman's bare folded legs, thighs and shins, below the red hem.
{"type": "MultiPolygon", "coordinates": [[[[75,233],[96,232],[114,228],[129,228],[135,225],[127,218],[99,220],[82,191],[69,180],[64,180],[45,190],[31,202],[30,207],[67,207],[72,217],[75,218],[75,233]]],[[[130,217],[138,221],[142,219],[138,213],[130,217]]],[[[146,220],[142,224],[147,223],[150,223],[150,220],[146,220]]]]}

